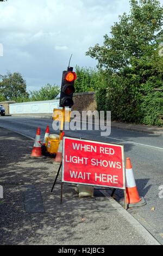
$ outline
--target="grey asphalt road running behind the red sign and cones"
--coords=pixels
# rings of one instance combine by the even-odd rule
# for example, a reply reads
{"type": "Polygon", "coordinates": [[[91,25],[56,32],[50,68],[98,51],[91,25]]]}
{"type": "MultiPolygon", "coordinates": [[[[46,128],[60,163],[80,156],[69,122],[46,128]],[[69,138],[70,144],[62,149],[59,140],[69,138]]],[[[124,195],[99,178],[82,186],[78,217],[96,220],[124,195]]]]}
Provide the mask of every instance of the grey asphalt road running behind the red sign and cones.
{"type": "MultiPolygon", "coordinates": [[[[37,127],[41,128],[43,139],[47,124],[54,133],[52,120],[48,118],[0,117],[0,127],[33,139],[37,127]]],[[[163,136],[121,129],[111,129],[106,137],[97,130],[66,131],[66,135],[124,145],[125,157],[130,157],[133,164],[140,196],[147,201],[146,206],[128,211],[163,245],[163,198],[159,198],[159,187],[163,185],[163,136]]],[[[115,195],[117,201],[123,197],[121,190],[116,190],[115,195]]]]}

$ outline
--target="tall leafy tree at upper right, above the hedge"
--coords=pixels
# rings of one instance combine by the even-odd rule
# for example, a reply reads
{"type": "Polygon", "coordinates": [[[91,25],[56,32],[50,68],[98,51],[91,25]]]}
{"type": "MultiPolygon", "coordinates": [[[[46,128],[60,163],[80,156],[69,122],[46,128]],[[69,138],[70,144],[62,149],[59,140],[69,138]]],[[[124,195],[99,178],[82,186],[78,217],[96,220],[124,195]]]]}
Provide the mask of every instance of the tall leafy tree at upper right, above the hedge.
{"type": "Polygon", "coordinates": [[[111,37],[104,35],[104,44],[90,47],[86,55],[97,59],[98,67],[119,72],[131,67],[135,59],[151,59],[162,42],[162,7],[157,0],[131,0],[131,11],[120,16],[111,27],[111,37]]]}

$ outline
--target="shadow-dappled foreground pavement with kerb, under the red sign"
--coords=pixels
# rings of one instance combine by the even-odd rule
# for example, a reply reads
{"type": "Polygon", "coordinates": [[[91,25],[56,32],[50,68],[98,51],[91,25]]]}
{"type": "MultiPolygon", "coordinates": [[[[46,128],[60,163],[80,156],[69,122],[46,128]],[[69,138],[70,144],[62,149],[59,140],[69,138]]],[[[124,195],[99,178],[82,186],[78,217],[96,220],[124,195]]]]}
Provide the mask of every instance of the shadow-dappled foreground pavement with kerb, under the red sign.
{"type": "Polygon", "coordinates": [[[60,176],[51,193],[59,165],[29,158],[32,146],[0,128],[1,245],[159,245],[108,190],[79,198],[74,185],[64,184],[60,204],[60,176]]]}

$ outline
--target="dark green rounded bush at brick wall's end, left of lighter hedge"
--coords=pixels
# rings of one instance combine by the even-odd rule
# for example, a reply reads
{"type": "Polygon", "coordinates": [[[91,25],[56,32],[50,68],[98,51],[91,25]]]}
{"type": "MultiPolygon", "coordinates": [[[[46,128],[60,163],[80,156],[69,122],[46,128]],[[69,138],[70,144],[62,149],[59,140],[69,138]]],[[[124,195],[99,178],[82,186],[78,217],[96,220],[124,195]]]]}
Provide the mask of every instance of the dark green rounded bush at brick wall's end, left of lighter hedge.
{"type": "Polygon", "coordinates": [[[109,76],[106,84],[96,93],[97,109],[111,111],[111,119],[115,121],[139,122],[141,98],[136,86],[119,75],[109,76]]]}

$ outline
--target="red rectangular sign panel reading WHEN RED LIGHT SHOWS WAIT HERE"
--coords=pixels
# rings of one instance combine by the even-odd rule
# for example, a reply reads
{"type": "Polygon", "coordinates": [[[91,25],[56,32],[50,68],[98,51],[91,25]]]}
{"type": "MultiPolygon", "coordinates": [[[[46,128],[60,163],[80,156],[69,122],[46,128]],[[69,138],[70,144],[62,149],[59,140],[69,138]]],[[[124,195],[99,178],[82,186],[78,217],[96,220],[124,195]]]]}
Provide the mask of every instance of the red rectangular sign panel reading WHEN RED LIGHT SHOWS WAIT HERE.
{"type": "Polygon", "coordinates": [[[64,136],[62,182],[126,189],[122,145],[64,136]]]}

